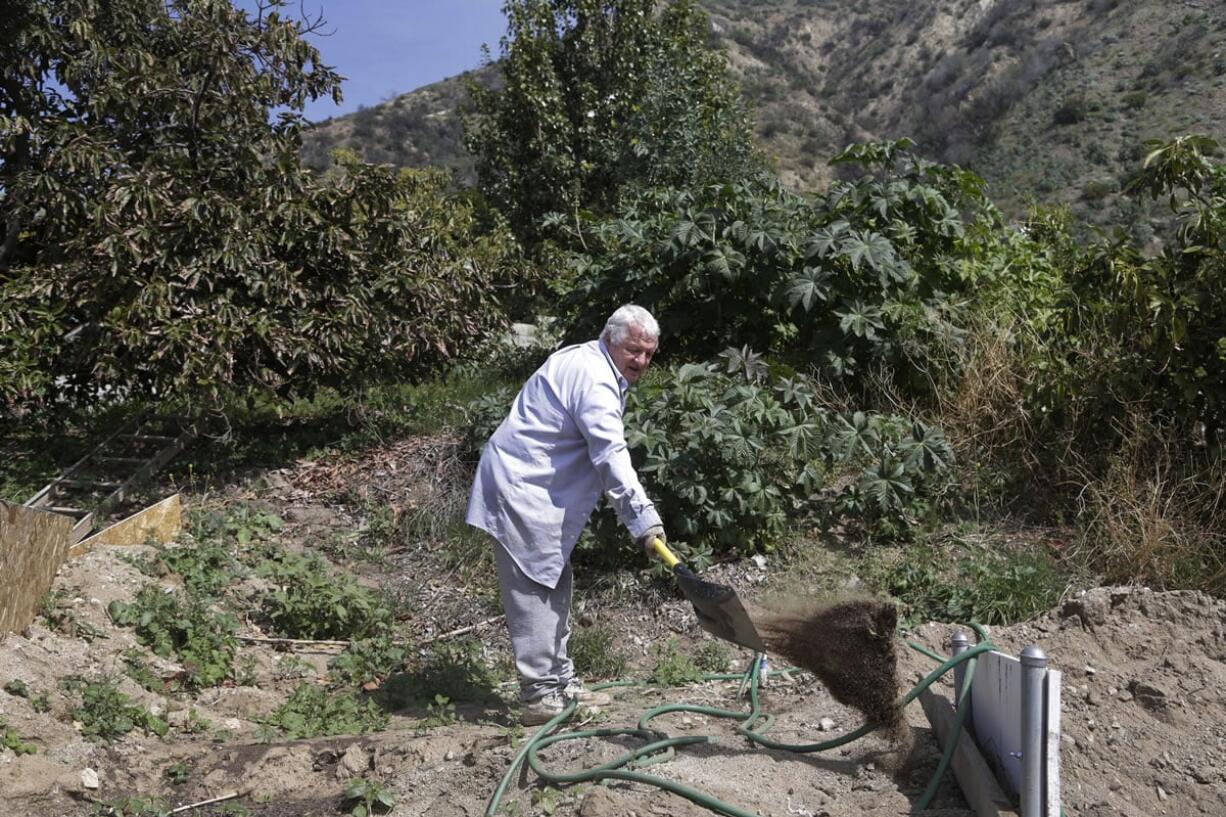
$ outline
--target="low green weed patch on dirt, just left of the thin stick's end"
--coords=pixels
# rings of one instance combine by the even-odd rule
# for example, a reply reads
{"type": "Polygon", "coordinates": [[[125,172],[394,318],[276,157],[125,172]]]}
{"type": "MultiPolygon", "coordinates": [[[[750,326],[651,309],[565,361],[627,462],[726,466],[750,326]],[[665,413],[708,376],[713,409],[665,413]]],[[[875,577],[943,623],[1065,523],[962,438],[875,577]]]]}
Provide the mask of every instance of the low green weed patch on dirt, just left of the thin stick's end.
{"type": "Polygon", "coordinates": [[[136,628],[136,637],[156,655],[177,656],[186,670],[188,686],[215,687],[234,675],[238,621],[213,612],[195,596],[179,595],[158,585],[146,585],[131,602],[112,601],[107,607],[120,627],[136,628]]]}

